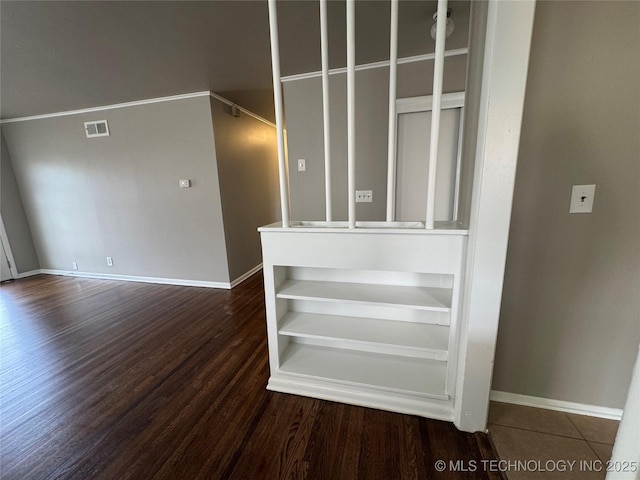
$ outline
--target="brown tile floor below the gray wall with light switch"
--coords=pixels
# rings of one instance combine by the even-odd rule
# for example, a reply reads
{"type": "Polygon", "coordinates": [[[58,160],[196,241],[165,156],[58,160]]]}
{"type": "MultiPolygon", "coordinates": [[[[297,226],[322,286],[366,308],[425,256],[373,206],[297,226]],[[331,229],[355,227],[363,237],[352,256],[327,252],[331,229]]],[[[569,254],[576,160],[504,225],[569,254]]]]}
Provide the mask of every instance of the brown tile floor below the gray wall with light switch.
{"type": "Polygon", "coordinates": [[[499,402],[489,408],[489,435],[504,461],[493,468],[508,480],[604,479],[617,430],[616,420],[499,402]]]}

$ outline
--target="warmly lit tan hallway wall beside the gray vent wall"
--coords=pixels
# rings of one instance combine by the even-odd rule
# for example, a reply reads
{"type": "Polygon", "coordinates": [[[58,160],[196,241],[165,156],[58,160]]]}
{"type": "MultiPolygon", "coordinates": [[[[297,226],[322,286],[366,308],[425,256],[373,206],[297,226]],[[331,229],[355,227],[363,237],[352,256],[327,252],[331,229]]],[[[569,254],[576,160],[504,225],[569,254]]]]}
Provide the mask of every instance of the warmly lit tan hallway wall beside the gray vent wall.
{"type": "Polygon", "coordinates": [[[280,220],[276,129],[211,99],[229,275],[262,263],[257,228],[280,220]]]}

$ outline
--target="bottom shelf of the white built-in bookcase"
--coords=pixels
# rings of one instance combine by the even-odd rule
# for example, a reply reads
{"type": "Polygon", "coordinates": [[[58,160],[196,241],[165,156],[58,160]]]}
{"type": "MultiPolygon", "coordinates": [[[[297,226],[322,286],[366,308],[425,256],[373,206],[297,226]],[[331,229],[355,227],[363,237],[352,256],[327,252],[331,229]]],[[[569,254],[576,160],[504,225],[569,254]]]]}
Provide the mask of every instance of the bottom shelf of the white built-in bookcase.
{"type": "Polygon", "coordinates": [[[281,357],[282,372],[370,388],[448,400],[447,364],[291,343],[281,357]]]}

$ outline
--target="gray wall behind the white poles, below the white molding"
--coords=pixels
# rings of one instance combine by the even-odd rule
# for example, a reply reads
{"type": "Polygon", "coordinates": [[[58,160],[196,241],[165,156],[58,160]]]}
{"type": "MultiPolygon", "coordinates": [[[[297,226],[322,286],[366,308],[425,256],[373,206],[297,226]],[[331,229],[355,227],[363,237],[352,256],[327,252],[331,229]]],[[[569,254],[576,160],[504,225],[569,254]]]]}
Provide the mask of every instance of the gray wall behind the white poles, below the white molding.
{"type": "MultiPolygon", "coordinates": [[[[463,91],[466,55],[445,61],[444,92],[463,91]]],[[[330,77],[333,219],[347,219],[346,74],[330,77]]],[[[398,67],[398,98],[430,95],[433,62],[398,67]]],[[[324,220],[322,82],[309,78],[284,84],[292,220],[324,220]],[[297,160],[306,160],[298,172],[297,160]]],[[[356,188],[373,190],[372,203],[358,203],[358,220],[384,220],[387,191],[389,69],[356,72],[356,188]]]]}

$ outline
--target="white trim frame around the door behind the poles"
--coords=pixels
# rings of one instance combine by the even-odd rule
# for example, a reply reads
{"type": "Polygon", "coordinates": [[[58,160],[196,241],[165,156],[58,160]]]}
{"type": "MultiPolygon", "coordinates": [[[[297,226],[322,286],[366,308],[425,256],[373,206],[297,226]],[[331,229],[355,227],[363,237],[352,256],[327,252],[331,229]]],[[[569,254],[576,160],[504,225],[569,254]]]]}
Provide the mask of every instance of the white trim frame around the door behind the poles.
{"type": "MultiPolygon", "coordinates": [[[[458,126],[458,151],[456,153],[456,177],[455,184],[453,186],[453,215],[452,219],[454,222],[458,220],[458,203],[460,199],[460,166],[462,164],[462,133],[464,126],[464,92],[453,92],[453,93],[445,93],[442,95],[442,100],[440,104],[441,110],[448,110],[452,108],[460,109],[460,123],[458,126]]],[[[433,95],[422,95],[419,97],[407,97],[407,98],[399,98],[396,100],[396,145],[398,145],[398,125],[400,125],[400,115],[404,113],[419,113],[419,112],[430,112],[433,110],[433,95]]],[[[429,169],[429,162],[431,159],[427,155],[427,169],[429,169]]],[[[398,178],[398,148],[396,148],[395,159],[394,159],[394,178],[398,178]]],[[[397,181],[397,180],[396,180],[397,181]]],[[[393,199],[393,216],[395,219],[395,195],[397,193],[395,181],[394,181],[394,190],[392,195],[393,199]]]]}

